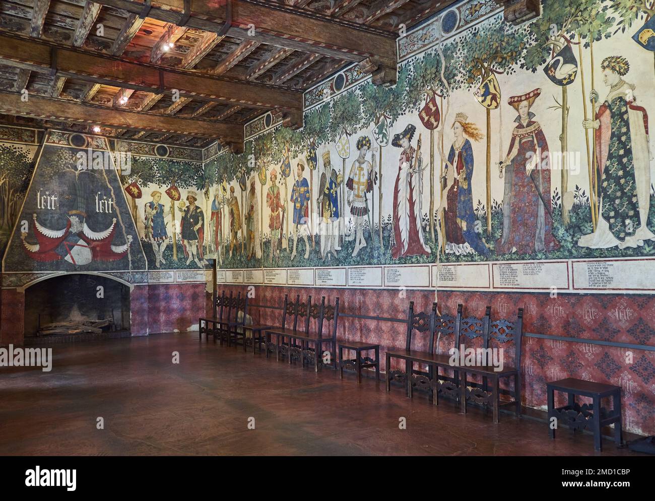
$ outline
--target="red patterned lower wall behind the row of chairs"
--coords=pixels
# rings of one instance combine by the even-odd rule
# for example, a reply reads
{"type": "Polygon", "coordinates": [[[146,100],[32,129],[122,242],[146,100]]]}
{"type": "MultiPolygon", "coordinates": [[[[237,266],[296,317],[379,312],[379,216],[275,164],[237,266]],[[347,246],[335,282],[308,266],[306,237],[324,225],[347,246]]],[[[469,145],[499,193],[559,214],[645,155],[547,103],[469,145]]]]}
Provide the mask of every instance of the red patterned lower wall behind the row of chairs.
{"type": "MultiPolygon", "coordinates": [[[[219,292],[223,288],[219,286],[219,292]]],[[[243,286],[225,289],[235,294],[245,291],[243,286]]],[[[416,311],[429,311],[435,299],[434,292],[429,291],[255,286],[255,297],[251,301],[258,305],[281,306],[285,292],[290,297],[301,293],[303,299],[312,294],[312,301],[320,301],[322,295],[332,300],[338,296],[342,312],[390,318],[406,318],[409,301],[415,301],[416,311]]],[[[483,316],[485,306],[491,305],[492,319],[508,320],[515,320],[517,309],[522,307],[525,309],[523,331],[527,333],[655,344],[652,327],[655,297],[652,296],[597,294],[551,298],[548,293],[440,291],[438,303],[441,312],[451,314],[455,314],[457,304],[462,303],[465,316],[483,316]]],[[[252,314],[255,319],[259,315],[261,322],[280,322],[281,312],[277,310],[253,310],[252,314]]],[[[405,343],[405,325],[393,322],[341,319],[337,332],[339,339],[380,344],[383,365],[384,352],[389,348],[402,348],[405,343]]],[[[452,341],[444,348],[451,346],[452,341]]],[[[577,377],[616,384],[623,390],[624,427],[637,433],[655,434],[655,352],[524,337],[521,356],[525,405],[545,408],[546,382],[550,380],[577,377]]],[[[508,359],[513,360],[513,357],[506,354],[508,359]]]]}

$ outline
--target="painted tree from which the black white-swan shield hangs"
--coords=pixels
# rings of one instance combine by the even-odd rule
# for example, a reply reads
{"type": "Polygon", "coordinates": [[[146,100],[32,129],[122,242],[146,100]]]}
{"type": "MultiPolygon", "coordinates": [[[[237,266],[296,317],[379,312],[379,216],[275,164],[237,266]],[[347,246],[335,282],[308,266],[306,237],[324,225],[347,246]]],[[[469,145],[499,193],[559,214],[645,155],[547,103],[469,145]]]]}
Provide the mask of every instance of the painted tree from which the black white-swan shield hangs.
{"type": "MultiPolygon", "coordinates": [[[[608,29],[613,26],[614,20],[607,14],[607,6],[601,4],[597,0],[563,0],[558,2],[544,2],[542,9],[542,16],[531,24],[525,26],[525,35],[527,37],[527,48],[523,55],[521,67],[536,71],[542,65],[547,64],[555,56],[555,54],[563,48],[566,44],[578,44],[582,39],[586,39],[586,44],[593,43],[609,37],[610,32],[608,29]],[[574,42],[573,39],[577,38],[578,41],[574,42]]],[[[578,61],[580,81],[583,85],[584,91],[584,64],[582,61],[582,47],[578,47],[578,54],[580,61],[578,61]]],[[[592,69],[593,72],[593,64],[592,69]]],[[[572,81],[571,81],[572,84],[572,81]]],[[[565,203],[565,196],[569,192],[569,166],[568,166],[568,151],[569,151],[569,84],[560,85],[561,87],[561,100],[558,102],[555,99],[556,105],[553,109],[561,111],[561,135],[559,136],[561,143],[562,163],[561,163],[561,195],[562,195],[562,223],[566,227],[569,225],[569,206],[568,202],[565,203]]],[[[587,118],[586,112],[586,96],[583,96],[582,105],[584,107],[585,119],[587,118]]],[[[588,135],[587,143],[589,142],[588,135]]],[[[587,144],[588,159],[589,159],[589,144],[587,144]]],[[[589,166],[589,181],[590,196],[593,197],[593,181],[591,179],[591,161],[588,162],[589,166]]],[[[591,200],[593,208],[593,200],[591,200]]],[[[595,227],[595,212],[591,211],[592,222],[595,227]]]]}

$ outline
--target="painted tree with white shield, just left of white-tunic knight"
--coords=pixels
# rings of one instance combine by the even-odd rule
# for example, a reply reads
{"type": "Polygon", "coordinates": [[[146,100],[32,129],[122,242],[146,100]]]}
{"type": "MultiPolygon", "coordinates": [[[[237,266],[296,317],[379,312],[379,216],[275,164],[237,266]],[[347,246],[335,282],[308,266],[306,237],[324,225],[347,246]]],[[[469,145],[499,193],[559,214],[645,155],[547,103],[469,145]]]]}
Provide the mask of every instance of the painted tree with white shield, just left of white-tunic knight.
{"type": "MultiPolygon", "coordinates": [[[[337,153],[343,159],[341,174],[344,182],[341,185],[341,200],[339,201],[339,206],[343,207],[341,231],[339,232],[343,240],[346,217],[346,179],[348,177],[346,174],[346,158],[350,157],[348,138],[362,128],[362,103],[357,90],[350,89],[334,98],[331,105],[331,119],[328,128],[329,141],[337,145],[337,153]]],[[[372,228],[371,234],[373,234],[372,228]]]]}

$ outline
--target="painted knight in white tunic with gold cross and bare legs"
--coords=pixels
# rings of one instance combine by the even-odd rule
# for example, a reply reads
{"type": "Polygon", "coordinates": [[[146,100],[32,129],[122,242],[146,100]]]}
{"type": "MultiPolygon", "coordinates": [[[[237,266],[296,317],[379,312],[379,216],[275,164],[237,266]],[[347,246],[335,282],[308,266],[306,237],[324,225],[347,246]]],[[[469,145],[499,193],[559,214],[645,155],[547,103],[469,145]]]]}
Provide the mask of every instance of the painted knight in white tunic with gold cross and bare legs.
{"type": "MultiPolygon", "coordinates": [[[[355,220],[355,248],[352,257],[366,246],[364,238],[364,218],[368,215],[367,193],[373,191],[373,164],[375,164],[375,153],[373,153],[373,164],[366,160],[366,155],[371,149],[371,139],[368,136],[361,136],[357,139],[359,156],[352,162],[346,188],[348,188],[348,205],[350,214],[355,220]]],[[[371,229],[372,234],[372,229],[371,229]]]]}

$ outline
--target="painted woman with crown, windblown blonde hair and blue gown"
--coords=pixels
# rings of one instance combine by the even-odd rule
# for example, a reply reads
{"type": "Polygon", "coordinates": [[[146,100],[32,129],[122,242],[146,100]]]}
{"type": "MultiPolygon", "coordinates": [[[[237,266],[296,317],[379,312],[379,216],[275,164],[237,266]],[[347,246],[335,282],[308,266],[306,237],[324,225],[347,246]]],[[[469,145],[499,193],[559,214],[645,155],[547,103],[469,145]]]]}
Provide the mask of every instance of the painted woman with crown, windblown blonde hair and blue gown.
{"type": "Polygon", "coordinates": [[[468,115],[465,113],[455,115],[452,128],[455,140],[448,153],[444,173],[446,194],[441,196],[446,252],[460,255],[476,251],[489,255],[487,244],[481,234],[476,232],[476,215],[471,193],[474,158],[470,139],[479,141],[483,135],[476,124],[468,121],[468,115]]]}

